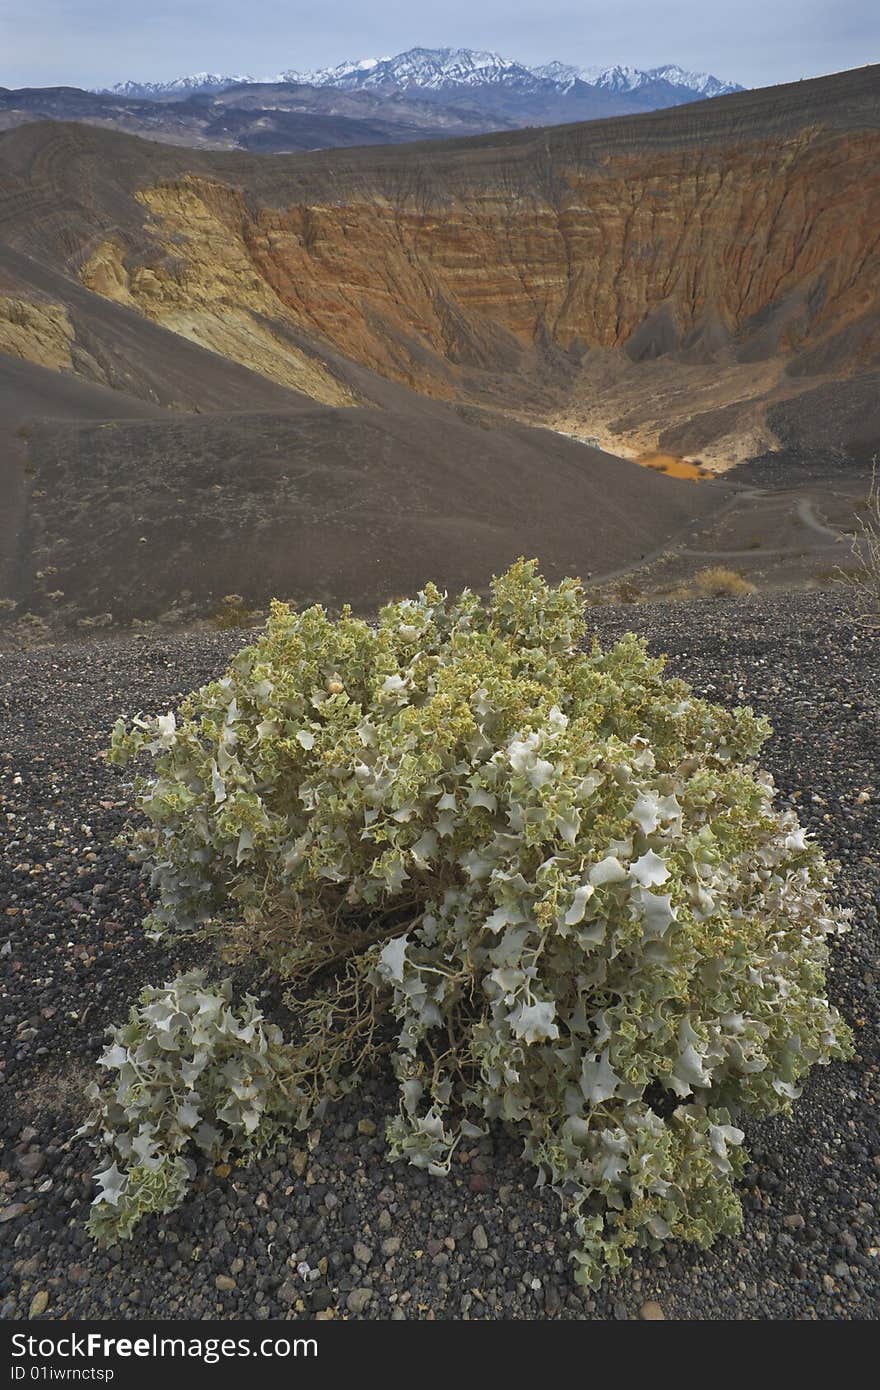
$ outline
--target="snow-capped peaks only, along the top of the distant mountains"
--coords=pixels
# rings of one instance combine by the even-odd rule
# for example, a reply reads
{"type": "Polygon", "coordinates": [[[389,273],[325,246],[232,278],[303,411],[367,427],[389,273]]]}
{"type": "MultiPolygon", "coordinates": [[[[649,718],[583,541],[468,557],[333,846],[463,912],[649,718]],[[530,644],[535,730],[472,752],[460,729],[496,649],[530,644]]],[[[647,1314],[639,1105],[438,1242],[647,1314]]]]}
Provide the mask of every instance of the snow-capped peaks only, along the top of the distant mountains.
{"type": "MultiPolygon", "coordinates": [[[[125,97],[154,100],[185,99],[222,92],[247,83],[302,83],[338,88],[345,92],[410,92],[413,95],[455,93],[462,89],[498,88],[512,95],[560,96],[578,86],[599,92],[633,95],[651,89],[677,89],[685,100],[741,92],[735,82],[724,82],[708,72],[688,72],[677,64],[658,68],[584,68],[567,63],[545,63],[530,68],[473,49],[409,49],[393,57],[359,58],[332,68],[313,71],[285,70],[272,76],[249,74],[195,72],[171,82],[118,82],[104,92],[125,97]]],[[[665,103],[658,103],[665,104],[665,103]]]]}

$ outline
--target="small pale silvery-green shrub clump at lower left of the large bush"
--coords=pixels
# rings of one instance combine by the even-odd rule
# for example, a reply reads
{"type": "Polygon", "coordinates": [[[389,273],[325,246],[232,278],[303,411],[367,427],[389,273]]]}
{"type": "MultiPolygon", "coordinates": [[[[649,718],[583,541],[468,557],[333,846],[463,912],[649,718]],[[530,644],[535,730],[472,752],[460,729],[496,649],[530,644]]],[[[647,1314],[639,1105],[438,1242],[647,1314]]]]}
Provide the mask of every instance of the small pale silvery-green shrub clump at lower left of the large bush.
{"type": "Polygon", "coordinates": [[[196,1170],[264,1151],[292,1109],[291,1059],[281,1031],[256,999],[232,1006],[232,984],[204,987],[193,970],[146,988],[128,1023],[114,1029],[93,1083],[93,1109],[79,1130],[108,1159],[89,1227],[101,1238],[129,1236],[147,1212],[170,1212],[196,1170]],[[122,1163],[122,1168],[120,1168],[122,1163]]]}

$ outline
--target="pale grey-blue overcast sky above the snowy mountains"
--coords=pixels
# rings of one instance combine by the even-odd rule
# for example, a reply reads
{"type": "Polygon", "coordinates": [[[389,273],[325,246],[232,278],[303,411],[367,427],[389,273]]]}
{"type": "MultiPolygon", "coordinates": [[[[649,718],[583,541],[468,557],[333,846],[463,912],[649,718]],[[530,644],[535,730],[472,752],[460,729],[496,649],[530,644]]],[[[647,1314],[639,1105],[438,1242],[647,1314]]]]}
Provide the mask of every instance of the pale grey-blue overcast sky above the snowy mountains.
{"type": "Polygon", "coordinates": [[[766,86],[880,58],[879,0],[0,0],[0,86],[324,67],[424,47],[766,86]]]}

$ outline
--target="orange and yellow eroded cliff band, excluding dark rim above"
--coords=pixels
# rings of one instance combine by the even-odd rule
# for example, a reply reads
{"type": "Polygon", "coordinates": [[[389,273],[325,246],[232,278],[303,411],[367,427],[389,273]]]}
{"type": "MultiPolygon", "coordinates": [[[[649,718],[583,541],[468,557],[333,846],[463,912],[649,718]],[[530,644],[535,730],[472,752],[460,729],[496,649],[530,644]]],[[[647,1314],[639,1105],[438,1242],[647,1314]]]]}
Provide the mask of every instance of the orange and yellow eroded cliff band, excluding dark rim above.
{"type": "Polygon", "coordinates": [[[138,195],[140,264],[104,243],[82,278],[328,403],[338,384],[272,321],[438,396],[546,342],[726,368],[880,356],[876,132],[560,161],[544,196],[503,174],[437,206],[356,188],[284,207],[190,175],[138,195]]]}

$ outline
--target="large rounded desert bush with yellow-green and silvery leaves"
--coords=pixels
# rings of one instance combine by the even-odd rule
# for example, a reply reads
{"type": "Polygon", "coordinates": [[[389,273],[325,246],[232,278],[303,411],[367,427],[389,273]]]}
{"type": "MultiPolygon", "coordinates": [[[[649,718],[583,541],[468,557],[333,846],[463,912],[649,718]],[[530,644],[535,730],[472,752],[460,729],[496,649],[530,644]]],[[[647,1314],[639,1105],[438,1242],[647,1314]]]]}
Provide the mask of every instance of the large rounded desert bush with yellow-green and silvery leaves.
{"type": "Polygon", "coordinates": [[[595,1283],[734,1232],[737,1115],[848,1045],[823,976],[842,920],[753,766],[767,734],[633,635],[584,648],[580,585],[519,562],[488,603],[428,585],[375,627],[274,605],[111,759],[152,759],[149,929],[288,981],[298,1123],[388,1051],[391,1156],[442,1175],[513,1126],[595,1283]]]}

